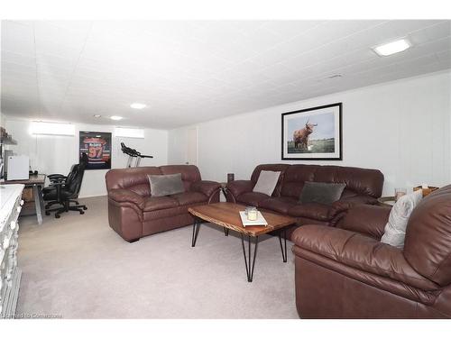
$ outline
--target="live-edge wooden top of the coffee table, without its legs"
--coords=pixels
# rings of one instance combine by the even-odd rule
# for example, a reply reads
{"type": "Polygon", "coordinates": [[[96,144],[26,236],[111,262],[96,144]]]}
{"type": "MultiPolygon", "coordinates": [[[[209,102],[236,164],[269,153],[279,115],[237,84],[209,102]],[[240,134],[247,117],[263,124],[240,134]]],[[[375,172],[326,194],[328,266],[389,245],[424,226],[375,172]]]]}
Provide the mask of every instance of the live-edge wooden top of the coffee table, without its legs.
{"type": "Polygon", "coordinates": [[[250,236],[259,236],[263,233],[271,233],[290,224],[295,224],[296,220],[290,216],[278,215],[261,211],[268,225],[243,226],[240,211],[244,211],[246,206],[235,203],[219,202],[205,206],[192,206],[188,211],[204,221],[211,222],[234,230],[237,233],[244,233],[250,236]]]}

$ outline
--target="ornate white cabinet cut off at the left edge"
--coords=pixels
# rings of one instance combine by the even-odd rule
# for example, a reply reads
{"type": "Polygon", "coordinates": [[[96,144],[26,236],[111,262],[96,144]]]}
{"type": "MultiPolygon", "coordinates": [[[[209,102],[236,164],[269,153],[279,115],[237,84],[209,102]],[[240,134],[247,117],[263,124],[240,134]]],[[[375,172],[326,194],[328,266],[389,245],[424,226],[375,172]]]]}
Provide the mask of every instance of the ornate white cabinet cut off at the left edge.
{"type": "Polygon", "coordinates": [[[14,318],[21,270],[17,267],[22,184],[0,186],[0,317],[14,318]]]}

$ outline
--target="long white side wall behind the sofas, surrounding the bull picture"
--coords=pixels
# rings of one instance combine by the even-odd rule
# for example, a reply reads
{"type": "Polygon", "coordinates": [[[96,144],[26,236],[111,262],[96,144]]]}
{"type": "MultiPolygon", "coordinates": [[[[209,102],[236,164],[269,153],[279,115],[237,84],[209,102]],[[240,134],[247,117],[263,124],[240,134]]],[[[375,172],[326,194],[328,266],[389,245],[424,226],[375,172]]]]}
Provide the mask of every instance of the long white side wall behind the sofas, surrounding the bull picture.
{"type": "MultiPolygon", "coordinates": [[[[320,96],[198,124],[204,179],[247,179],[259,163],[336,164],[380,169],[394,187],[451,182],[451,73],[440,72],[320,96]],[[281,160],[281,114],[343,102],[343,160],[281,160]]],[[[169,132],[169,163],[186,161],[187,128],[169,132]]]]}

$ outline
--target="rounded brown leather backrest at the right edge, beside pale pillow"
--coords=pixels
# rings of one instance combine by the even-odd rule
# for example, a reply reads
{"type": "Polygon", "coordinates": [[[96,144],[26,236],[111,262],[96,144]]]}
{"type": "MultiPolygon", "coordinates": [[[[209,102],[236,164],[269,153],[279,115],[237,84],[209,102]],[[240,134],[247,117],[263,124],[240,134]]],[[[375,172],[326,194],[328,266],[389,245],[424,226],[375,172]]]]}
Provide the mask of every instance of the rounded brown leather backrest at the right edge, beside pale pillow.
{"type": "Polygon", "coordinates": [[[451,283],[451,185],[423,198],[409,218],[404,256],[441,286],[451,283]]]}

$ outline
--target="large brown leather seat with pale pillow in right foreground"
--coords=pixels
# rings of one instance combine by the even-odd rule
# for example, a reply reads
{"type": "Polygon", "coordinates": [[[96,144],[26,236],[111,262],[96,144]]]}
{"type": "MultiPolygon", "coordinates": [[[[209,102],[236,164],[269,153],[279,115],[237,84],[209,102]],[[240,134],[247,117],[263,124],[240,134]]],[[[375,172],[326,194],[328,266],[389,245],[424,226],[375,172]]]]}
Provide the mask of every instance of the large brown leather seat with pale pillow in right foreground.
{"type": "Polygon", "coordinates": [[[451,185],[410,215],[404,249],[379,242],[389,207],[293,233],[301,318],[451,318],[451,185]]]}

